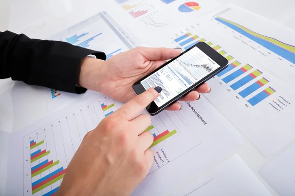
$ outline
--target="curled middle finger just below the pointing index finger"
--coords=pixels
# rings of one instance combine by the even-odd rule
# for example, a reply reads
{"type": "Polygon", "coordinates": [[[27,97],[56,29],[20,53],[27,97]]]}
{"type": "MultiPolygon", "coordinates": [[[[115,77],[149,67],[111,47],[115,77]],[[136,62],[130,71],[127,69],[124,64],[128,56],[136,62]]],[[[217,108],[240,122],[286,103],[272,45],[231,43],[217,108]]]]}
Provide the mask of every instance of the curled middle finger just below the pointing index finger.
{"type": "Polygon", "coordinates": [[[135,130],[131,130],[135,132],[137,135],[143,133],[151,123],[151,119],[147,114],[141,114],[138,117],[132,119],[131,126],[135,127],[135,130]]]}

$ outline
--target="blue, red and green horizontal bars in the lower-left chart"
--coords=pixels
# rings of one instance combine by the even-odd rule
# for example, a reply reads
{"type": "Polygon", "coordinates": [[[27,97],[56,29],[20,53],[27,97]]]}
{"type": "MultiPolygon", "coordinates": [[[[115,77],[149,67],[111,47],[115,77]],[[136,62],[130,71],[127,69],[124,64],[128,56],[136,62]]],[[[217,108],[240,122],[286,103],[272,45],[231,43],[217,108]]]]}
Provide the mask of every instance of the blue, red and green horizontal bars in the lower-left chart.
{"type": "MultiPolygon", "coordinates": [[[[44,140],[36,143],[34,140],[30,141],[31,150],[34,150],[34,147],[40,146],[41,144],[44,144],[44,140]],[[32,148],[33,147],[33,148],[32,148]]],[[[30,154],[30,159],[31,159],[31,164],[34,163],[35,161],[39,161],[41,158],[47,156],[50,154],[50,150],[42,150],[38,149],[30,154]]],[[[44,160],[44,159],[43,159],[44,160]]],[[[56,169],[53,172],[49,172],[49,174],[43,175],[43,172],[48,172],[50,171],[49,169],[53,168],[54,166],[58,166],[59,160],[56,162],[53,162],[53,160],[48,161],[48,159],[44,161],[40,161],[37,165],[31,167],[31,178],[32,178],[32,184],[31,184],[31,190],[32,190],[32,195],[42,191],[46,187],[51,186],[55,182],[59,181],[60,179],[63,178],[66,169],[63,169],[63,167],[60,167],[56,169]],[[40,175],[41,174],[41,175],[40,175]],[[40,175],[37,179],[34,178],[35,176],[40,175]]],[[[51,191],[43,194],[43,196],[53,196],[57,191],[58,188],[52,189],[51,191]]]]}

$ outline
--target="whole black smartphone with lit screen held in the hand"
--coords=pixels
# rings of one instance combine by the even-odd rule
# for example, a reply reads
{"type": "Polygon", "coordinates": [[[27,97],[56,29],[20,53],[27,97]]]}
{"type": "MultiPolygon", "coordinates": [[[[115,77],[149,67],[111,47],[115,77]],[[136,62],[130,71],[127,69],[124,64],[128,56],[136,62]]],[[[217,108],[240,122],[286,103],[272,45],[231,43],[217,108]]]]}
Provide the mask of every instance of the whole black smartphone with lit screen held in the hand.
{"type": "Polygon", "coordinates": [[[147,106],[158,114],[225,69],[229,61],[205,42],[199,42],[133,84],[137,95],[160,86],[161,95],[147,106]]]}

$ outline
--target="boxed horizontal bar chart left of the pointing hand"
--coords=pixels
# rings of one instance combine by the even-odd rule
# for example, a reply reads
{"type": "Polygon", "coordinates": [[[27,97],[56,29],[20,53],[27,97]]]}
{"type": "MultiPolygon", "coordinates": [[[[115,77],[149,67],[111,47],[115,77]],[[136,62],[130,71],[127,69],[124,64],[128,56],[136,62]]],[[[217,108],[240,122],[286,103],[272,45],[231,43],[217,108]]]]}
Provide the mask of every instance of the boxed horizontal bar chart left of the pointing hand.
{"type": "Polygon", "coordinates": [[[96,125],[85,105],[24,137],[24,195],[54,195],[81,141],[96,125]]]}

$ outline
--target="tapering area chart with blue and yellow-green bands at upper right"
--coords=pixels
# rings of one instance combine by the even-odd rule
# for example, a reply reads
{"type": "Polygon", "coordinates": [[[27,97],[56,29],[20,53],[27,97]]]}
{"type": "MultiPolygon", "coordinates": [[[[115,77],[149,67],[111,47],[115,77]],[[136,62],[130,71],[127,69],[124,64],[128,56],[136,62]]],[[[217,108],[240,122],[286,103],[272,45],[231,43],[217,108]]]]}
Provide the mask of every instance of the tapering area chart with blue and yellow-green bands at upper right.
{"type": "Polygon", "coordinates": [[[242,25],[239,25],[235,22],[229,21],[227,19],[217,17],[216,21],[232,28],[236,32],[244,35],[245,37],[251,39],[252,41],[262,45],[266,49],[278,54],[279,56],[287,59],[288,61],[295,63],[295,46],[290,44],[283,43],[277,39],[261,35],[257,32],[254,32],[242,25]]]}

